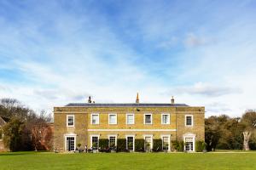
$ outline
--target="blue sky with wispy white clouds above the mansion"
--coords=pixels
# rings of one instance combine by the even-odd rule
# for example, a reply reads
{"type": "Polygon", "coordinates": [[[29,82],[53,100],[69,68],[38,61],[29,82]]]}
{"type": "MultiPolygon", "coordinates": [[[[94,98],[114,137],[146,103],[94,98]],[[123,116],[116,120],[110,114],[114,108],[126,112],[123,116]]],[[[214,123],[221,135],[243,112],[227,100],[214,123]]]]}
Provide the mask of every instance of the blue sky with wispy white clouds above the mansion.
{"type": "Polygon", "coordinates": [[[0,98],[256,109],[256,1],[0,0],[0,98]]]}

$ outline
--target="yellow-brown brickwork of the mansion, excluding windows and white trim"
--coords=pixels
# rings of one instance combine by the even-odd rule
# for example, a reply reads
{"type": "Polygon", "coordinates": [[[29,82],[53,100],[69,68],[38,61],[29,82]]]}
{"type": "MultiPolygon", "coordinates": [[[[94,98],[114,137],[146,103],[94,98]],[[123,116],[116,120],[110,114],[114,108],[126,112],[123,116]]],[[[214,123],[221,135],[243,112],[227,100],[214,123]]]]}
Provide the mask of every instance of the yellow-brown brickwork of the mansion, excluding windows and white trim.
{"type": "Polygon", "coordinates": [[[204,107],[55,107],[54,108],[54,147],[57,150],[65,150],[64,135],[68,133],[76,134],[76,144],[82,144],[84,147],[87,144],[90,147],[90,135],[100,135],[100,139],[108,139],[108,135],[117,135],[118,139],[124,139],[125,135],[135,135],[136,139],[143,139],[143,135],[153,135],[153,139],[160,139],[161,135],[170,134],[171,140],[183,139],[185,133],[195,133],[195,138],[204,140],[204,107]],[[90,123],[90,114],[100,114],[100,124],[92,125],[90,123]],[[118,124],[108,124],[108,114],[117,114],[118,124]],[[135,115],[135,124],[126,125],[126,113],[135,115]],[[152,113],[153,124],[144,125],[143,116],[145,113],[152,113]],[[171,123],[169,125],[161,124],[161,113],[169,113],[171,123]],[[74,115],[75,126],[67,127],[67,115],[74,115]],[[193,115],[194,126],[185,127],[185,115],[193,115]],[[113,131],[95,131],[91,132],[88,129],[113,129],[113,131]],[[119,129],[115,131],[114,129],[119,129]],[[145,131],[121,131],[120,129],[145,129],[145,131]],[[154,131],[155,129],[172,129],[172,131],[154,131]],[[151,130],[151,131],[150,131],[151,130]],[[175,131],[177,130],[177,131],[175,131]]]}

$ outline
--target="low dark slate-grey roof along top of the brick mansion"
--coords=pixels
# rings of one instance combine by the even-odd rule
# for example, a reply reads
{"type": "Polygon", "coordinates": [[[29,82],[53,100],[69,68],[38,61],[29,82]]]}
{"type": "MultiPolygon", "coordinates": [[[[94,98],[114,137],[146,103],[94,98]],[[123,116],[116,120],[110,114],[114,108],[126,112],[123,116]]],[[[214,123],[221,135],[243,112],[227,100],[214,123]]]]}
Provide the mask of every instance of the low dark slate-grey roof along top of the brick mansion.
{"type": "Polygon", "coordinates": [[[189,106],[185,104],[89,104],[72,103],[65,105],[67,107],[182,107],[189,106]]]}

